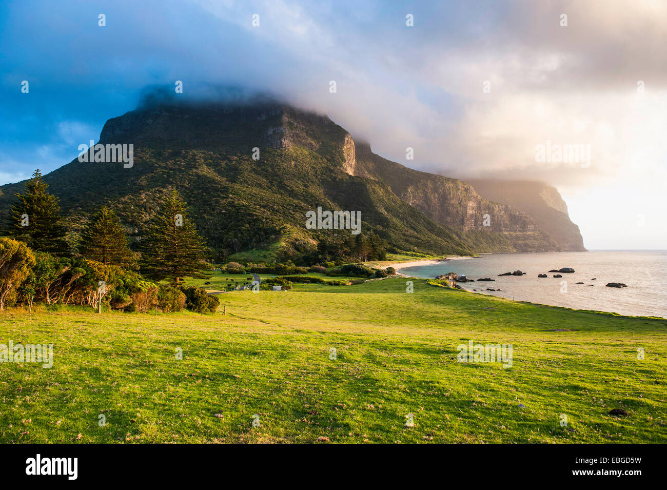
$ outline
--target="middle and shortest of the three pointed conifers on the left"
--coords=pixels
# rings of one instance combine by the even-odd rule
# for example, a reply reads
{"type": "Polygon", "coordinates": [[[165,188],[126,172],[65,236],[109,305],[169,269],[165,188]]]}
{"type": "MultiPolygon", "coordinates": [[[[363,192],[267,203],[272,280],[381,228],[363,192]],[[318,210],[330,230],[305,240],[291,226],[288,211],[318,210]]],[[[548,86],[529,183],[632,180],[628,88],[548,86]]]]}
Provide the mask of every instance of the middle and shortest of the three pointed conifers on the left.
{"type": "Polygon", "coordinates": [[[127,246],[127,235],[116,213],[106,206],[97,211],[81,233],[79,252],[85,259],[105,265],[135,267],[135,257],[127,246]]]}

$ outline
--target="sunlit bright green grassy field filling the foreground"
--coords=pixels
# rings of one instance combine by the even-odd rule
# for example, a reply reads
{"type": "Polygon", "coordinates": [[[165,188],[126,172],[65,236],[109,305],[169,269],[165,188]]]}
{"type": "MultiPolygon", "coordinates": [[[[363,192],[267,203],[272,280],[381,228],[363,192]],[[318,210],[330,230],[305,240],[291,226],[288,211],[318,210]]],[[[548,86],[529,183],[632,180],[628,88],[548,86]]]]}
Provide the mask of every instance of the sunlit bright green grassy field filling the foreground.
{"type": "Polygon", "coordinates": [[[51,369],[0,363],[0,443],[667,442],[664,319],[419,279],[219,298],[225,315],[0,315],[0,343],[54,345],[51,369]],[[458,362],[470,339],[512,344],[512,367],[458,362]]]}

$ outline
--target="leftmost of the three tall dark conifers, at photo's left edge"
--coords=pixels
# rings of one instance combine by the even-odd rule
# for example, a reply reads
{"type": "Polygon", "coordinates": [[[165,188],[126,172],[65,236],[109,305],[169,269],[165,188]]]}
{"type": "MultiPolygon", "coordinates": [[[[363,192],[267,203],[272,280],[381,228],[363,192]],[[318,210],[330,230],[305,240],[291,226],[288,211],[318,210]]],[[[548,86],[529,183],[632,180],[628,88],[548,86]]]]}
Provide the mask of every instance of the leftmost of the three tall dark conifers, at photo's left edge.
{"type": "Polygon", "coordinates": [[[18,202],[11,207],[7,234],[35,251],[67,255],[60,205],[58,198],[47,192],[48,187],[39,169],[35,170],[23,194],[15,194],[18,202]]]}

